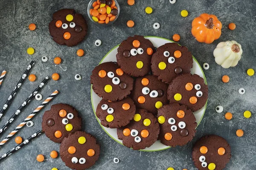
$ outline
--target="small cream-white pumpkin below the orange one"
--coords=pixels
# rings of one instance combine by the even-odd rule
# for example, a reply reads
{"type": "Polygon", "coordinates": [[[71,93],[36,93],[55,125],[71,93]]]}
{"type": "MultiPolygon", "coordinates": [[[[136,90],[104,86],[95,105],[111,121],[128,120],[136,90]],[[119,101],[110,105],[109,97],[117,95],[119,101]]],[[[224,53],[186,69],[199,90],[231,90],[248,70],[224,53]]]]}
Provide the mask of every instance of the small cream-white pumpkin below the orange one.
{"type": "Polygon", "coordinates": [[[213,51],[215,62],[223,68],[235,67],[242,53],[241,45],[236,41],[220,42],[213,51]]]}

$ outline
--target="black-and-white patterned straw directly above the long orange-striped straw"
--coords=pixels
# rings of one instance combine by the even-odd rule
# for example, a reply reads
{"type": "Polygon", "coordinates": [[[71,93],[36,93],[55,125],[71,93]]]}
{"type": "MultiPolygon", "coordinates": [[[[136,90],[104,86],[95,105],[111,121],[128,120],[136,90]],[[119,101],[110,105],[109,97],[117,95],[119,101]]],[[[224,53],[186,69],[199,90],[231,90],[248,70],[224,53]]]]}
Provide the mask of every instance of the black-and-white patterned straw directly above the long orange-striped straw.
{"type": "Polygon", "coordinates": [[[44,86],[44,84],[48,81],[49,77],[45,77],[45,79],[38,85],[38,87],[32,92],[32,94],[29,95],[29,97],[23,102],[20,106],[20,108],[15,111],[15,113],[12,115],[12,117],[6,122],[6,124],[0,129],[0,136],[3,134],[3,131],[5,131],[10,124],[12,124],[15,120],[15,117],[20,114],[20,112],[23,110],[23,108],[26,108],[27,104],[30,102],[31,99],[35,98],[35,95],[38,93],[38,91],[41,90],[41,88],[44,86]]]}

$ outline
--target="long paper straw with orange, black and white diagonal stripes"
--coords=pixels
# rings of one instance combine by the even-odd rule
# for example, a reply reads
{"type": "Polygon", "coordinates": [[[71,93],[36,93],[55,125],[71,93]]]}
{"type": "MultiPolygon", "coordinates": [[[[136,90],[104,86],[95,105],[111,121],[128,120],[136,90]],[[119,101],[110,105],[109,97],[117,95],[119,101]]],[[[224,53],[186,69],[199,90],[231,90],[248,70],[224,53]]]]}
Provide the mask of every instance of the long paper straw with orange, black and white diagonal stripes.
{"type": "Polygon", "coordinates": [[[51,101],[51,99],[58,94],[58,91],[55,90],[47,99],[44,100],[44,102],[41,103],[40,106],[38,106],[29,116],[26,117],[26,119],[23,120],[23,122],[20,123],[20,125],[18,125],[14,130],[12,130],[11,133],[9,133],[8,136],[6,136],[5,139],[3,139],[0,142],[0,147],[2,147],[13,135],[15,135],[15,133],[17,133],[24,125],[26,125],[26,123],[32,119],[36,113],[38,113],[42,108],[44,108],[44,106],[51,101]]]}

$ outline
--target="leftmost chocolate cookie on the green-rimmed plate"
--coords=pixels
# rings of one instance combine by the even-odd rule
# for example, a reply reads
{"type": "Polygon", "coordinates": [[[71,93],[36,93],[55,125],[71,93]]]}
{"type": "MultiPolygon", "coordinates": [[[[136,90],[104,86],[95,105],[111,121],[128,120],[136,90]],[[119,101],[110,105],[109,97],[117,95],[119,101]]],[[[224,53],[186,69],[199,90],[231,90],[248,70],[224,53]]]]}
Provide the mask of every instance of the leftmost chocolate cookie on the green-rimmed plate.
{"type": "Polygon", "coordinates": [[[124,73],[115,62],[104,62],[93,69],[90,81],[98,96],[118,101],[131,93],[134,79],[124,73]]]}

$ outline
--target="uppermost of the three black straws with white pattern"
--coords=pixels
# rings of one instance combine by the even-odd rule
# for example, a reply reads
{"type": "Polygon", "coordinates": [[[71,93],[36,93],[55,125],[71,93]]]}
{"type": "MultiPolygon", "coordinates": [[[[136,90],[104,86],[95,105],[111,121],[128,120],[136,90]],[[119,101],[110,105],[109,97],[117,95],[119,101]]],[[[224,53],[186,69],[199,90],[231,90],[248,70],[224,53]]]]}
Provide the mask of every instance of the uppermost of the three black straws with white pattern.
{"type": "Polygon", "coordinates": [[[2,110],[0,111],[0,119],[3,116],[4,112],[6,111],[6,108],[8,108],[10,102],[12,101],[12,99],[14,98],[15,94],[17,93],[17,91],[19,90],[20,86],[22,85],[22,82],[24,81],[24,79],[26,78],[26,75],[29,73],[29,71],[31,70],[31,68],[33,67],[33,65],[35,64],[34,61],[30,62],[29,66],[26,68],[25,73],[22,75],[22,77],[20,78],[20,81],[18,82],[18,84],[15,86],[14,90],[12,91],[12,94],[9,96],[8,100],[6,101],[6,104],[3,105],[2,110]]]}

